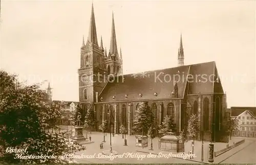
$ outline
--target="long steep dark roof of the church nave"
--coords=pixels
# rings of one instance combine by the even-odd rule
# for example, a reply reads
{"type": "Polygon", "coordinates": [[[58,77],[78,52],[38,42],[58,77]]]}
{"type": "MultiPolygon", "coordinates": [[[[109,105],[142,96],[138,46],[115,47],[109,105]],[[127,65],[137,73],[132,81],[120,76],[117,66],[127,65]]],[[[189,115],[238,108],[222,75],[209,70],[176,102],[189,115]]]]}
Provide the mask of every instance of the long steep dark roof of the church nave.
{"type": "MultiPolygon", "coordinates": [[[[190,94],[198,94],[199,91],[201,93],[213,93],[214,83],[212,81],[204,82],[203,75],[212,75],[214,70],[215,62],[212,61],[152,70],[144,72],[144,75],[143,73],[119,75],[114,78],[113,82],[108,82],[105,85],[99,98],[102,97],[101,102],[113,102],[113,96],[115,96],[114,101],[170,99],[172,98],[172,91],[174,91],[175,80],[177,80],[178,98],[182,99],[188,75],[190,75],[190,78],[194,77],[193,82],[190,80],[190,94]],[[178,75],[180,75],[180,81],[178,80],[178,75]],[[199,79],[202,79],[202,83],[199,83],[199,79]],[[155,92],[157,96],[154,95],[155,92]],[[139,98],[139,94],[142,95],[141,98],[139,98]],[[127,95],[126,98],[125,95],[127,95]]],[[[210,76],[208,77],[210,78],[210,76]]]]}

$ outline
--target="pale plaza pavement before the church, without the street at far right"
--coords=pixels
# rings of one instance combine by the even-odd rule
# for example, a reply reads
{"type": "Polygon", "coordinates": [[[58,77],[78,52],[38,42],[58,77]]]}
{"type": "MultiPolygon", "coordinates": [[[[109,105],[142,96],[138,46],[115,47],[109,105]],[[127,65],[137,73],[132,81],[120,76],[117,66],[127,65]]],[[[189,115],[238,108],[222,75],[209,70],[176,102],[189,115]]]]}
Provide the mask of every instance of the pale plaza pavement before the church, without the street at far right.
{"type": "MultiPolygon", "coordinates": [[[[88,133],[88,136],[91,135],[92,140],[95,142],[93,144],[88,144],[86,145],[87,150],[85,151],[80,151],[77,152],[76,154],[83,154],[83,155],[93,155],[96,153],[96,156],[104,150],[109,150],[110,149],[110,133],[106,133],[105,136],[105,143],[103,143],[104,149],[101,150],[99,147],[99,144],[103,140],[103,133],[102,132],[90,132],[88,133]]],[[[84,136],[86,136],[86,131],[84,131],[84,136]]],[[[123,154],[123,153],[137,153],[138,155],[148,155],[150,153],[152,154],[168,154],[169,152],[166,151],[160,151],[158,149],[158,139],[159,138],[154,138],[153,139],[153,151],[150,150],[150,144],[151,144],[151,139],[148,138],[148,147],[146,148],[141,148],[141,147],[136,147],[135,146],[135,136],[133,135],[126,135],[127,139],[127,146],[124,146],[124,139],[122,138],[121,134],[116,134],[114,137],[112,136],[112,149],[117,151],[118,154],[123,154]]],[[[236,138],[232,137],[230,140],[230,145],[233,142],[238,142],[241,140],[241,138],[236,138]]],[[[249,141],[245,144],[249,143],[249,141]]],[[[194,154],[196,157],[194,159],[182,159],[182,158],[143,158],[142,160],[138,160],[138,158],[115,158],[114,160],[110,160],[110,158],[83,158],[83,159],[76,159],[79,163],[208,163],[208,142],[204,142],[204,161],[201,161],[201,141],[196,140],[195,141],[195,147],[194,147],[194,154]]],[[[244,144],[240,145],[244,146],[244,144]]],[[[224,143],[215,143],[215,151],[223,149],[226,147],[226,144],[224,143]]],[[[187,153],[188,151],[192,150],[191,147],[191,142],[188,141],[185,143],[185,152],[187,153]]],[[[234,149],[231,149],[232,151],[234,149]]],[[[230,152],[228,151],[228,152],[230,152]]],[[[228,153],[227,152],[227,153],[228,153]]],[[[175,154],[175,152],[173,152],[175,154]]],[[[226,154],[220,155],[218,157],[215,157],[215,163],[221,162],[222,160],[225,159],[226,154]],[[224,157],[223,157],[224,156],[224,157]]],[[[156,155],[157,157],[158,155],[156,155]]],[[[235,163],[235,162],[234,162],[235,163]]]]}

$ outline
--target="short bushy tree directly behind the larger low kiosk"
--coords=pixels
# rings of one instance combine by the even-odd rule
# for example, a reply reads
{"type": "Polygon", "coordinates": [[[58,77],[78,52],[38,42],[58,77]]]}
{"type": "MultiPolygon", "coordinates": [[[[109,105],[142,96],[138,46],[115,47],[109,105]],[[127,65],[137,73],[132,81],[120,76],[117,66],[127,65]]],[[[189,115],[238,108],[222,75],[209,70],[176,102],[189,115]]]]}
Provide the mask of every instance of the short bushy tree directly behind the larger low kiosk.
{"type": "Polygon", "coordinates": [[[171,116],[166,115],[163,119],[162,124],[159,126],[158,133],[162,137],[167,132],[173,132],[176,133],[176,126],[174,124],[174,120],[171,116]]]}

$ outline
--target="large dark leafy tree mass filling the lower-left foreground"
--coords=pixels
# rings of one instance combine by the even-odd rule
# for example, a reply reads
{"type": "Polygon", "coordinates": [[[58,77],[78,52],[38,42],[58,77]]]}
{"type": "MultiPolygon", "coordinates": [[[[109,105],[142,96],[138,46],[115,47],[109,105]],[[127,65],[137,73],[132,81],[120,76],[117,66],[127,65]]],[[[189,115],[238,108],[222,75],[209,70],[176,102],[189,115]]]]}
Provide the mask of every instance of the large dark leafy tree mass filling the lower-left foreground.
{"type": "Polygon", "coordinates": [[[44,130],[54,126],[53,119],[59,117],[56,111],[60,111],[61,105],[44,102],[45,92],[39,87],[40,84],[19,83],[16,76],[0,71],[0,163],[68,162],[61,157],[14,159],[15,153],[5,152],[8,147],[28,147],[27,153],[20,153],[24,156],[64,155],[85,149],[63,133],[52,134],[44,130]]]}

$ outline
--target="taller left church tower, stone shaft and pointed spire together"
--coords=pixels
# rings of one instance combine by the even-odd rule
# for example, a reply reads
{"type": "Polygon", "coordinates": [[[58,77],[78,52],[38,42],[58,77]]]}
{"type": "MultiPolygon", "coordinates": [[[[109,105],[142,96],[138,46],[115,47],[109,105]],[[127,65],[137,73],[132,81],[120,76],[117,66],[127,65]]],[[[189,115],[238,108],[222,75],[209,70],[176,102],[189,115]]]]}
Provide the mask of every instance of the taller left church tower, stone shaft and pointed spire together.
{"type": "Polygon", "coordinates": [[[103,89],[105,81],[104,69],[104,49],[102,38],[100,46],[98,45],[97,32],[94,17],[94,8],[92,4],[91,21],[87,42],[82,40],[81,63],[78,69],[79,77],[79,102],[83,110],[87,107],[93,107],[97,95],[103,89]]]}

